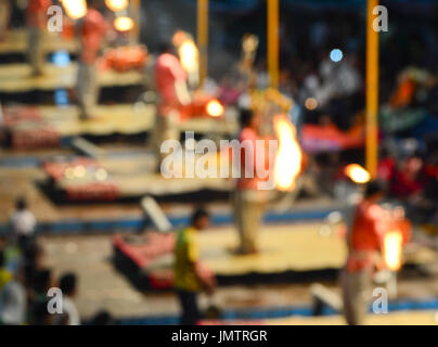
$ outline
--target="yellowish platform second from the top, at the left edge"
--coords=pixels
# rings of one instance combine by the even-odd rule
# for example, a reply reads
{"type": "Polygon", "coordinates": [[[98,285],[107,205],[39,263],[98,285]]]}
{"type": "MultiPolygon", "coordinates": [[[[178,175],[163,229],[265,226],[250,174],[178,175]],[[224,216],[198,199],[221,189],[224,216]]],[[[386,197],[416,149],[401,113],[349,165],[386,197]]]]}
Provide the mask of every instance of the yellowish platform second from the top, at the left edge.
{"type": "MultiPolygon", "coordinates": [[[[0,92],[16,93],[31,90],[54,90],[59,88],[74,88],[77,78],[77,64],[69,63],[65,67],[46,64],[44,75],[30,76],[28,64],[0,65],[0,92]]],[[[98,74],[101,87],[124,87],[143,83],[143,75],[136,70],[117,73],[106,69],[98,74]]]]}

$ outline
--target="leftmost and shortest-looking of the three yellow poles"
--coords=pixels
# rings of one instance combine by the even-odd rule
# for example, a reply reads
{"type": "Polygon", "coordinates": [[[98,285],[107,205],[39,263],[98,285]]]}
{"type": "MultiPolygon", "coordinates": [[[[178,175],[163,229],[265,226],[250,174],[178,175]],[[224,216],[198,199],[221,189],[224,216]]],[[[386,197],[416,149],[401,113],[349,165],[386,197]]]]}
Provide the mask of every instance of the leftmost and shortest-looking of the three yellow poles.
{"type": "Polygon", "coordinates": [[[197,47],[199,49],[199,83],[208,74],[208,0],[197,0],[197,47]]]}

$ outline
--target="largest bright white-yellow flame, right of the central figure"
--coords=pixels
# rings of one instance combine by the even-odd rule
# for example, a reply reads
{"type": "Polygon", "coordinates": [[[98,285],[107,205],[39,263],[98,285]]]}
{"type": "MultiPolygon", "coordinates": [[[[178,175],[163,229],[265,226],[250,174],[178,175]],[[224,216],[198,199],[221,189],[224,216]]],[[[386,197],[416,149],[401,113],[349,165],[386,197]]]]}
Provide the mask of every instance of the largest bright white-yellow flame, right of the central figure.
{"type": "Polygon", "coordinates": [[[295,127],[286,116],[278,115],[273,121],[279,139],[274,167],[275,185],[280,191],[292,191],[301,171],[301,149],[296,139],[295,127]]]}

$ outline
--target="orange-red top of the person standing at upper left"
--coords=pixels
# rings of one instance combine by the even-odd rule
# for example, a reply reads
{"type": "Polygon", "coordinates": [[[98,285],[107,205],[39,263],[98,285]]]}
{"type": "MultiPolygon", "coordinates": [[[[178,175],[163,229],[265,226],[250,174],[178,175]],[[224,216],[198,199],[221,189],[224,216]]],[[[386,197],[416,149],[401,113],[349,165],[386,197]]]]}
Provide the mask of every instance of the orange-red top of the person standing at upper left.
{"type": "Polygon", "coordinates": [[[80,26],[80,42],[82,62],[93,64],[98,59],[102,41],[107,30],[107,25],[102,14],[94,9],[89,9],[80,26]]]}

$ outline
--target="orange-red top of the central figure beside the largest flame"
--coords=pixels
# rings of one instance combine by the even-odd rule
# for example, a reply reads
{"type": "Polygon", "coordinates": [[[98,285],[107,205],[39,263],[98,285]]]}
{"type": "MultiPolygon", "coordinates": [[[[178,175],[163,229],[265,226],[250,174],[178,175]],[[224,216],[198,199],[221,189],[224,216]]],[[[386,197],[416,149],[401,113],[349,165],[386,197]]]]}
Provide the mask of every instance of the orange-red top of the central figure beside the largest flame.
{"type": "MultiPolygon", "coordinates": [[[[267,178],[257,177],[257,167],[261,166],[261,169],[265,166],[265,169],[269,167],[269,153],[265,150],[265,158],[262,158],[258,152],[256,146],[257,140],[261,139],[256,131],[250,128],[244,128],[241,132],[239,141],[241,142],[241,178],[237,180],[237,189],[240,190],[257,190],[259,182],[265,182],[268,180],[267,178]],[[242,143],[245,143],[242,145],[242,143]],[[253,160],[246,162],[246,156],[253,155],[253,160]],[[262,162],[262,159],[265,159],[262,162]],[[248,172],[248,174],[247,174],[248,172]],[[253,178],[247,177],[252,175],[253,178]]],[[[262,170],[260,170],[262,174],[262,170]]]]}

